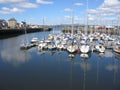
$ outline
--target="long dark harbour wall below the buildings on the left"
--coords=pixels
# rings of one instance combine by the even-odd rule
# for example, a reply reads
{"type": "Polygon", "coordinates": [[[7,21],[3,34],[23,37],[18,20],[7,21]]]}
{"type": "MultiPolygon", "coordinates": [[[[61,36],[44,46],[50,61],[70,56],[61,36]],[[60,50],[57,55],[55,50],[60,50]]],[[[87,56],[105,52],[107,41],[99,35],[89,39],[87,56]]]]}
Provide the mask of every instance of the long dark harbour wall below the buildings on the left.
{"type": "Polygon", "coordinates": [[[18,36],[26,33],[51,31],[52,28],[0,29],[0,39],[18,36]]]}

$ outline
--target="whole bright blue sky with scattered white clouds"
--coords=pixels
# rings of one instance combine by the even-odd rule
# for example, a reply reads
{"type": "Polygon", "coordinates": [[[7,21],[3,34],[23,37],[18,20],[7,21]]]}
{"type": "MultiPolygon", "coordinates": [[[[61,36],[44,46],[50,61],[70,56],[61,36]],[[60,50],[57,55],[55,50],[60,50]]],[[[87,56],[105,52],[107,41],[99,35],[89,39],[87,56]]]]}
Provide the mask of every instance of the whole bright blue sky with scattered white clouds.
{"type": "Polygon", "coordinates": [[[119,0],[0,0],[0,19],[15,18],[18,22],[42,24],[44,18],[45,24],[69,24],[74,9],[74,23],[82,24],[87,1],[89,22],[119,18],[119,0]]]}

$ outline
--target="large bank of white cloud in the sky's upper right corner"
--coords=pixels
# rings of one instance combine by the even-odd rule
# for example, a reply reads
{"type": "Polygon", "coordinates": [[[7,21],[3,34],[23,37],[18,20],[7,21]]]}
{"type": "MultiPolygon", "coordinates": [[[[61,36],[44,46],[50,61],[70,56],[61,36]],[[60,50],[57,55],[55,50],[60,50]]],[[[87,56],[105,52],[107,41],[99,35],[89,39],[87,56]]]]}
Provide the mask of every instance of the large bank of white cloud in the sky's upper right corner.
{"type": "Polygon", "coordinates": [[[104,0],[98,8],[88,10],[88,19],[90,21],[97,20],[97,23],[101,24],[105,24],[105,21],[111,23],[113,20],[118,20],[119,10],[119,0],[104,0]],[[99,20],[101,20],[101,22],[98,22],[99,20]]]}

